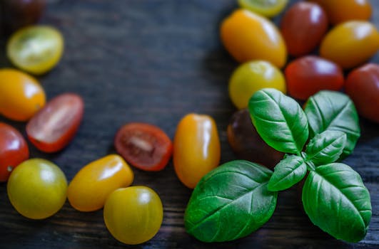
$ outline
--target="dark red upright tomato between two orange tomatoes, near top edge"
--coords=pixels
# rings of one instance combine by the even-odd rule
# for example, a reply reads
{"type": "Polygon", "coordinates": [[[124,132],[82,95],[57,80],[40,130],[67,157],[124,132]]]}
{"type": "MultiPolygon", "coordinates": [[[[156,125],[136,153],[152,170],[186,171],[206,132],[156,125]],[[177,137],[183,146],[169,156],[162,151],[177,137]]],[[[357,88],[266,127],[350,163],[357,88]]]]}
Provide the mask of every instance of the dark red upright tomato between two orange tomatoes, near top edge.
{"type": "Polygon", "coordinates": [[[310,53],[320,44],[328,31],[328,17],[315,3],[299,2],[285,12],[281,33],[288,53],[300,56],[310,53]]]}

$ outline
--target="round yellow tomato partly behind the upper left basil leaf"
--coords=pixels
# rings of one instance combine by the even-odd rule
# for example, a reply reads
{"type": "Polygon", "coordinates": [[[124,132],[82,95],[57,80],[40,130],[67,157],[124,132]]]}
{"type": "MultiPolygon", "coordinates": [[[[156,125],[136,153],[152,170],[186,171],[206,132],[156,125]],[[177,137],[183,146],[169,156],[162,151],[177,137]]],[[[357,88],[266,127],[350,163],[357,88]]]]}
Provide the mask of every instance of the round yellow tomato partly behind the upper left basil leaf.
{"type": "Polygon", "coordinates": [[[246,108],[251,95],[262,88],[276,88],[285,93],[283,73],[264,60],[240,65],[229,80],[229,96],[238,109],[246,108]]]}

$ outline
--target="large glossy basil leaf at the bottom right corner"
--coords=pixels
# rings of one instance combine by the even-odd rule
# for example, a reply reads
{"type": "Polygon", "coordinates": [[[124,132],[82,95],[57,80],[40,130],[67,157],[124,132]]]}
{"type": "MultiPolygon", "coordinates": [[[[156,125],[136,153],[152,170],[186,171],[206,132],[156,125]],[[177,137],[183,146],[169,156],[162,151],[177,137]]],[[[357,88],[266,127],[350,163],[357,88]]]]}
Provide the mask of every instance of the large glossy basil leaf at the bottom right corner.
{"type": "Polygon", "coordinates": [[[310,171],[302,199],[310,221],[326,233],[348,242],[365,237],[372,213],[370,194],[350,166],[333,163],[310,171]]]}

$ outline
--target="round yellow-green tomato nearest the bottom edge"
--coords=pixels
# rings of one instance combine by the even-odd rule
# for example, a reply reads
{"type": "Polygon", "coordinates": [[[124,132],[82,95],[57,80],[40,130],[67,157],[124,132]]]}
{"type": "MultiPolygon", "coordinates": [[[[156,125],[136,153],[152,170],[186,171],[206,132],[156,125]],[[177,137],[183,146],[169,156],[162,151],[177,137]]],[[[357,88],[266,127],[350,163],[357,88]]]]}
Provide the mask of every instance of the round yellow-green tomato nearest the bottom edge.
{"type": "Polygon", "coordinates": [[[106,228],[116,240],[136,245],[153,238],[163,221],[161,198],[146,186],[117,189],[106,199],[106,228]]]}

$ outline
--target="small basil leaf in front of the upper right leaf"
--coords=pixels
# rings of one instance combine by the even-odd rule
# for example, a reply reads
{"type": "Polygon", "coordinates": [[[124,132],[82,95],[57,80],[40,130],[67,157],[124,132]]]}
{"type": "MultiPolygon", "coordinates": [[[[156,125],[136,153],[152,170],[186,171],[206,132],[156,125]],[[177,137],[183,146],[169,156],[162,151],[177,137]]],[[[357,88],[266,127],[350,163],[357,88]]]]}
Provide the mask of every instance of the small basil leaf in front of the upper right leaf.
{"type": "Polygon", "coordinates": [[[306,159],[315,165],[330,164],[340,158],[346,144],[346,134],[339,131],[326,130],[316,134],[307,144],[306,159]]]}

